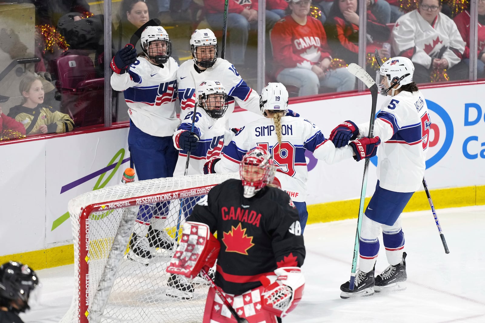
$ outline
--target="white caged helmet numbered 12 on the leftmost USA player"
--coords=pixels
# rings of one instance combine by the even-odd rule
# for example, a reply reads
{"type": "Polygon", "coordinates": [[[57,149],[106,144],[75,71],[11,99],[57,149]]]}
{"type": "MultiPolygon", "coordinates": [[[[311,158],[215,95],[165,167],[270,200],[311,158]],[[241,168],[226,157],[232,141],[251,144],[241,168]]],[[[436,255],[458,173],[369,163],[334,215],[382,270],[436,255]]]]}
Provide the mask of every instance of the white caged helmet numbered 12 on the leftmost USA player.
{"type": "Polygon", "coordinates": [[[164,64],[172,55],[172,42],[161,26],[148,26],[140,38],[145,55],[157,65],[164,64]]]}

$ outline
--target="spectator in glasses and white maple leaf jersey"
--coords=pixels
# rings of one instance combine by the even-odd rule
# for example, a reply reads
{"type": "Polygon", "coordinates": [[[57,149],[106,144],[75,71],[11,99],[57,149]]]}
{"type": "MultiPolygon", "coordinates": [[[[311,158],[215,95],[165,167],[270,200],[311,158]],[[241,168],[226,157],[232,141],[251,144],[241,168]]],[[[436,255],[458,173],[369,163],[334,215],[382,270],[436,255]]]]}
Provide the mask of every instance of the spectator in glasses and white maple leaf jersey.
{"type": "Polygon", "coordinates": [[[420,0],[419,9],[401,16],[392,30],[394,53],[411,59],[416,83],[430,82],[432,74],[445,69],[451,80],[468,77],[462,62],[465,42],[453,20],[440,10],[441,0],[420,0]]]}

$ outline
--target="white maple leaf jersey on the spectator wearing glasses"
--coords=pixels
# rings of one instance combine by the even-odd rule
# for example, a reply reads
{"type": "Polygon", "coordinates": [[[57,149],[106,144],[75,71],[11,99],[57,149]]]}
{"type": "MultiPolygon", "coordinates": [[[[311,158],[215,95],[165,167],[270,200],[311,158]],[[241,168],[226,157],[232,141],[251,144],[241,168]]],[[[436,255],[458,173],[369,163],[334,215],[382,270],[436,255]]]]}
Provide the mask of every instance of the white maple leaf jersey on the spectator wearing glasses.
{"type": "Polygon", "coordinates": [[[453,20],[438,13],[432,24],[418,10],[402,15],[392,29],[392,46],[398,56],[430,68],[433,59],[444,58],[449,67],[462,60],[465,42],[453,20]]]}

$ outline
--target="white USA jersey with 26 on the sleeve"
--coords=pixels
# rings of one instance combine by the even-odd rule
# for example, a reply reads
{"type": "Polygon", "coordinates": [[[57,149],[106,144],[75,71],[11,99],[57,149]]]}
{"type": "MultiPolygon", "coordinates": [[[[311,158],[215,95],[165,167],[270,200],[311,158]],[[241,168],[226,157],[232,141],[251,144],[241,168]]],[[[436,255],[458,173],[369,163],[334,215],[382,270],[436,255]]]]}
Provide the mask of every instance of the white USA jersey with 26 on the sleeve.
{"type": "MultiPolygon", "coordinates": [[[[179,150],[174,177],[183,176],[185,172],[187,152],[181,150],[178,146],[178,139],[182,131],[192,130],[193,116],[194,108],[190,108],[185,119],[182,120],[182,123],[180,123],[173,136],[174,146],[179,150]]],[[[197,149],[190,153],[188,175],[203,174],[204,164],[208,160],[218,158],[219,155],[222,154],[224,150],[225,134],[226,136],[229,136],[229,138],[232,138],[228,133],[228,130],[226,130],[225,120],[223,118],[211,118],[203,108],[197,107],[194,121],[194,134],[200,139],[198,140],[197,149]]]]}

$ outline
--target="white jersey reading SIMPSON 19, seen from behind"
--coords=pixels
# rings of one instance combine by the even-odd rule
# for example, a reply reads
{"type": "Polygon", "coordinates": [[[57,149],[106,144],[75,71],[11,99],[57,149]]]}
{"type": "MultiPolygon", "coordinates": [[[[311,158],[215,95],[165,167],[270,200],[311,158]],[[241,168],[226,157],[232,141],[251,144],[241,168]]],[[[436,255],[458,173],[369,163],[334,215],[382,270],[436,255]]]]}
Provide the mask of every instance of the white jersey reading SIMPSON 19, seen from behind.
{"type": "Polygon", "coordinates": [[[256,146],[263,147],[273,155],[281,189],[290,195],[291,200],[304,202],[308,177],[306,149],[328,164],[351,158],[354,154],[350,146],[335,148],[315,124],[301,117],[282,117],[281,130],[280,152],[275,153],[278,151],[278,139],[272,119],[259,119],[242,127],[227,145],[214,170],[217,173],[237,171],[245,153],[256,146]]]}

